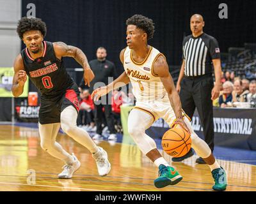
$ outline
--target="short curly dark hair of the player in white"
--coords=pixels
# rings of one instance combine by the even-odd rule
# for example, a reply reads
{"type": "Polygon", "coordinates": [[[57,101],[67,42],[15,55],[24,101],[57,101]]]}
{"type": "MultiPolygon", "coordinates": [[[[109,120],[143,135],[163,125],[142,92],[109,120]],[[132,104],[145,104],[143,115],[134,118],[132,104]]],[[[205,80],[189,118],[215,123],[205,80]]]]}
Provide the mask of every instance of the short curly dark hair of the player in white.
{"type": "Polygon", "coordinates": [[[154,23],[153,20],[143,15],[133,15],[131,18],[126,20],[126,25],[136,25],[138,28],[142,29],[147,33],[147,40],[150,40],[154,36],[154,23]]]}

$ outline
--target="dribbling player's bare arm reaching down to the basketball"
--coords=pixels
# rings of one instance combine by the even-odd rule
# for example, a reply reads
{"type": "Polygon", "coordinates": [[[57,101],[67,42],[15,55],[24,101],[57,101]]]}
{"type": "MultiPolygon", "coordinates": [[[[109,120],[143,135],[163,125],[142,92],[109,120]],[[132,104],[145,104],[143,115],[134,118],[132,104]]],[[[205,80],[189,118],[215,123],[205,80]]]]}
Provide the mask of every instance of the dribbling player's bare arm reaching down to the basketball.
{"type": "Polygon", "coordinates": [[[170,104],[176,116],[175,124],[180,124],[184,129],[186,129],[186,131],[189,132],[189,129],[186,126],[182,117],[182,108],[179,94],[175,89],[173,78],[170,75],[168,64],[163,55],[159,55],[157,57],[156,62],[153,64],[152,71],[154,75],[160,77],[161,82],[163,83],[164,88],[166,89],[168,98],[170,100],[170,104]]]}

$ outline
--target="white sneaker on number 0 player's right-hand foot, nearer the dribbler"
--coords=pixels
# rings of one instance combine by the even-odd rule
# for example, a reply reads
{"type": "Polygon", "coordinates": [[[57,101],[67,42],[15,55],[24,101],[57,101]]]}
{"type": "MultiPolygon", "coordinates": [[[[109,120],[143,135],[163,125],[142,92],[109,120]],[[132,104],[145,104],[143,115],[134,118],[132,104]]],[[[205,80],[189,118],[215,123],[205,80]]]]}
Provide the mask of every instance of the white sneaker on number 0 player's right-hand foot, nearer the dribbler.
{"type": "Polygon", "coordinates": [[[95,154],[92,154],[92,157],[96,161],[99,175],[102,177],[106,176],[111,170],[111,164],[108,161],[107,152],[101,147],[99,147],[99,151],[96,152],[95,154]]]}

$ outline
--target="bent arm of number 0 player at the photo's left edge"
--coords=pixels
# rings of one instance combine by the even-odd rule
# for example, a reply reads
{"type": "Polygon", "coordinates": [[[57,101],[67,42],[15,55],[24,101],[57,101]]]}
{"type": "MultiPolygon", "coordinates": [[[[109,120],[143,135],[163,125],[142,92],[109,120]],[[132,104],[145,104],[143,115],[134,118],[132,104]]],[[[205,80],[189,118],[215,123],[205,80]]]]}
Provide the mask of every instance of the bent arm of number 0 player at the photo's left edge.
{"type": "Polygon", "coordinates": [[[13,64],[14,75],[12,81],[12,94],[14,97],[19,97],[24,89],[24,84],[27,80],[26,71],[21,55],[19,54],[13,64]]]}

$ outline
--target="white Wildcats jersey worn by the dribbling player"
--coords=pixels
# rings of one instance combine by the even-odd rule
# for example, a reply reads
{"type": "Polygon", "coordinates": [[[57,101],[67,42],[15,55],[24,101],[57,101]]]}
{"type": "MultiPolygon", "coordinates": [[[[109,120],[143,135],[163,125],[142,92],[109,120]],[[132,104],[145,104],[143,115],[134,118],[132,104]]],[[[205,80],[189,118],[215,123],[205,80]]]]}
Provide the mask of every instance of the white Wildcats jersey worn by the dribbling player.
{"type": "Polygon", "coordinates": [[[124,69],[131,80],[132,92],[137,101],[155,101],[166,95],[160,78],[153,73],[153,65],[159,55],[163,54],[150,46],[145,60],[138,63],[132,59],[132,50],[129,47],[125,48],[124,69]]]}

